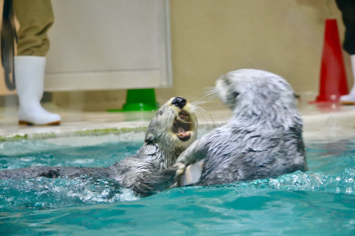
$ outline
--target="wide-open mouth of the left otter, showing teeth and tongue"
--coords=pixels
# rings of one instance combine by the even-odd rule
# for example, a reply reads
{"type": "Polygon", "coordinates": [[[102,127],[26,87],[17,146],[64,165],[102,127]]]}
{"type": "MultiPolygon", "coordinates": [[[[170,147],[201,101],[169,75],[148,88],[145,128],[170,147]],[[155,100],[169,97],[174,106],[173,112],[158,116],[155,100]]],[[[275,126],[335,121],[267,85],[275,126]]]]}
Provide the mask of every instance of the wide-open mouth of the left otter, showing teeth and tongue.
{"type": "Polygon", "coordinates": [[[185,142],[191,138],[191,127],[191,116],[188,113],[181,111],[178,114],[178,117],[174,120],[172,130],[182,142],[185,142]]]}

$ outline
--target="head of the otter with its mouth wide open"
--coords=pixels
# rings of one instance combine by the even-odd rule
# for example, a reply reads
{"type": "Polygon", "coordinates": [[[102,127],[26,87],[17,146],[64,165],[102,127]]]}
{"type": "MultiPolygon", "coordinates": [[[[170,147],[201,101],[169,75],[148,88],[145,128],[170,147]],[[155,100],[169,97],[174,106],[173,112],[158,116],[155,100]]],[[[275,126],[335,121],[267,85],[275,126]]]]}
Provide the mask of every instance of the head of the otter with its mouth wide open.
{"type": "Polygon", "coordinates": [[[145,142],[157,144],[169,155],[180,155],[197,139],[196,112],[196,106],[185,98],[171,98],[155,113],[148,126],[145,142]]]}

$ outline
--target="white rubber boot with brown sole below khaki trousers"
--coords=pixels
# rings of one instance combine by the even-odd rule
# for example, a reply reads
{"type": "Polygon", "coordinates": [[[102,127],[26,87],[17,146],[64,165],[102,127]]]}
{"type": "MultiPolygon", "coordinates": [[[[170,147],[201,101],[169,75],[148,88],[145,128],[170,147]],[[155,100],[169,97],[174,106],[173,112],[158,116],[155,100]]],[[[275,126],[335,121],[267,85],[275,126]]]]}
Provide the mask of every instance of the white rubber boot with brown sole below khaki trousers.
{"type": "Polygon", "coordinates": [[[44,89],[45,57],[16,56],[14,58],[15,83],[20,107],[21,125],[59,125],[61,118],[45,110],[40,100],[44,89]]]}

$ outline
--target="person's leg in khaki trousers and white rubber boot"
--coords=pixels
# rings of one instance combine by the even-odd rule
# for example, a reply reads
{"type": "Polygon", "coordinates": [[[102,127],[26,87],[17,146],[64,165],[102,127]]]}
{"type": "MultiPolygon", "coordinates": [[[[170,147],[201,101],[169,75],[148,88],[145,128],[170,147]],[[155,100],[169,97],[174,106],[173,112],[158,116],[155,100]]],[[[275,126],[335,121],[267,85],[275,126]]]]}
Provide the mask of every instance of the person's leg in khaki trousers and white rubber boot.
{"type": "Polygon", "coordinates": [[[59,124],[61,118],[43,109],[44,72],[49,50],[48,29],[54,22],[50,0],[13,0],[20,23],[17,56],[14,58],[20,124],[59,124]]]}

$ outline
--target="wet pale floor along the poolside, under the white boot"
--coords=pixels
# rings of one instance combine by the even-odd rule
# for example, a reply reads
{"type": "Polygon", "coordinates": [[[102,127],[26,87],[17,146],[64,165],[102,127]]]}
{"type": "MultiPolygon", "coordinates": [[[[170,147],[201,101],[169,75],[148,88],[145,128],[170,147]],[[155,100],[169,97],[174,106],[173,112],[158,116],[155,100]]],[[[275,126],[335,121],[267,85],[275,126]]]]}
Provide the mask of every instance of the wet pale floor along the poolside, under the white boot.
{"type": "MultiPolygon", "coordinates": [[[[54,136],[66,132],[94,129],[147,127],[154,112],[82,112],[64,110],[51,104],[43,105],[51,112],[61,115],[59,126],[23,126],[18,125],[17,107],[0,108],[0,136],[12,137],[27,134],[51,133],[54,136]]],[[[215,123],[230,119],[231,112],[225,109],[206,109],[215,123]]],[[[340,105],[301,105],[300,113],[304,119],[305,138],[355,137],[355,106],[340,105]]],[[[212,126],[211,118],[201,114],[199,122],[212,126]]],[[[60,136],[60,135],[58,135],[60,136]]]]}

